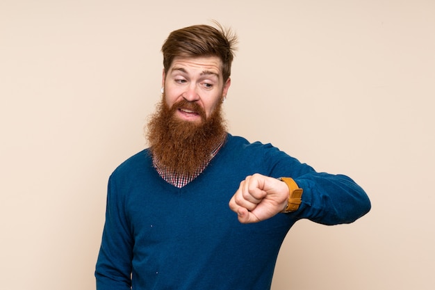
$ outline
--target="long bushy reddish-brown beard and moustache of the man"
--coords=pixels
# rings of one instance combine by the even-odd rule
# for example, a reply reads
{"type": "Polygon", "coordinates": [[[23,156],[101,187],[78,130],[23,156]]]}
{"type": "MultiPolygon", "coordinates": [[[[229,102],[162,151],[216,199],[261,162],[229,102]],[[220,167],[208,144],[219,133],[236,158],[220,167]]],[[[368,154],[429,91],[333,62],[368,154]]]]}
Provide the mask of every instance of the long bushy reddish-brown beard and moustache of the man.
{"type": "Polygon", "coordinates": [[[207,119],[204,110],[195,102],[183,100],[169,108],[164,96],[147,127],[147,140],[158,167],[181,176],[195,175],[204,167],[227,132],[221,103],[207,119]],[[186,106],[200,113],[200,124],[175,117],[178,108],[186,106]]]}

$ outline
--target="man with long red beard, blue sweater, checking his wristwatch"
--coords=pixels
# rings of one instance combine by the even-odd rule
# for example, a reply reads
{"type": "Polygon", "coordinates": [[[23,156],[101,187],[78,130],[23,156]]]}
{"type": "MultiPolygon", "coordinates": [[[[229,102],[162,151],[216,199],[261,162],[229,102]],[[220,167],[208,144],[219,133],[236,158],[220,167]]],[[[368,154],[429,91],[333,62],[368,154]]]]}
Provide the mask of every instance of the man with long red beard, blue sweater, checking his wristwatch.
{"type": "Polygon", "coordinates": [[[149,148],[109,179],[97,289],[270,289],[297,220],[352,223],[370,210],[349,177],[227,133],[221,112],[235,44],[219,24],[165,40],[149,148]]]}

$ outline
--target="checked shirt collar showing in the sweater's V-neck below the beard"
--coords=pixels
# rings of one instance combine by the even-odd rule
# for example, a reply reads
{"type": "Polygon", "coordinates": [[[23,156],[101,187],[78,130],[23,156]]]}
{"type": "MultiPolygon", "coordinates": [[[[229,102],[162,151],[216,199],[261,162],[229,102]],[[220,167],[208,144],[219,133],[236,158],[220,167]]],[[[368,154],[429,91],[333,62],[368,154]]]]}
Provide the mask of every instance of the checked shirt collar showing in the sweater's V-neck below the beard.
{"type": "Polygon", "coordinates": [[[210,159],[206,160],[201,167],[199,167],[194,174],[192,175],[177,175],[174,170],[161,168],[158,166],[158,160],[153,156],[153,166],[156,168],[158,174],[165,179],[165,181],[169,184],[172,184],[173,186],[177,186],[178,188],[181,188],[183,186],[186,186],[189,182],[192,182],[193,179],[197,178],[198,175],[200,175],[208,166],[208,163],[210,163],[211,159],[213,159],[214,156],[216,156],[217,152],[219,152],[220,148],[224,145],[224,140],[217,145],[215,150],[213,150],[210,154],[210,159]]]}

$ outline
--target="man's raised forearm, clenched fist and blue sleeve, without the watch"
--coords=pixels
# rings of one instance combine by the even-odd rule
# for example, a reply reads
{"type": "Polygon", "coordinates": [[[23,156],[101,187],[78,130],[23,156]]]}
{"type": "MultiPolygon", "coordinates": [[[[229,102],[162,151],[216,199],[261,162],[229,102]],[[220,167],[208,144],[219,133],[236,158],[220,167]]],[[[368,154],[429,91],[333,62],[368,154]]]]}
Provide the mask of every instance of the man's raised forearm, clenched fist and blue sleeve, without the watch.
{"type": "MultiPolygon", "coordinates": [[[[293,180],[303,190],[300,206],[288,213],[297,218],[336,225],[352,223],[370,211],[368,196],[350,177],[309,168],[293,180]]],[[[240,223],[257,223],[282,213],[289,193],[287,184],[279,179],[255,174],[240,182],[229,207],[238,214],[240,223]]]]}

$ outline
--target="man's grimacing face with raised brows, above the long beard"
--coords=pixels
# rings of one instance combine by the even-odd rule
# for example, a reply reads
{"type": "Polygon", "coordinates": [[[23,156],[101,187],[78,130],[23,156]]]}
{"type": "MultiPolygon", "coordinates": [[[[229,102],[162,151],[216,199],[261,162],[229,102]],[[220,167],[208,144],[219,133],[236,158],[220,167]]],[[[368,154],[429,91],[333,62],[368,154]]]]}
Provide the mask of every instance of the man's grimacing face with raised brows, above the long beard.
{"type": "Polygon", "coordinates": [[[174,117],[188,122],[204,122],[204,115],[210,118],[222,97],[227,96],[230,84],[230,79],[223,80],[222,61],[217,56],[176,57],[167,75],[163,70],[165,102],[172,108],[186,100],[177,108],[174,117]]]}

